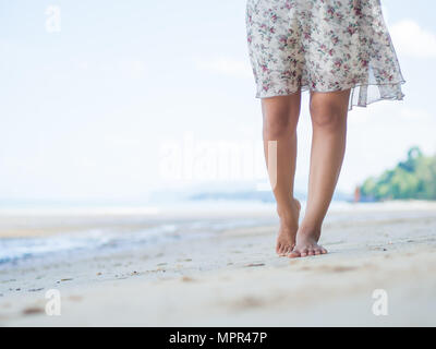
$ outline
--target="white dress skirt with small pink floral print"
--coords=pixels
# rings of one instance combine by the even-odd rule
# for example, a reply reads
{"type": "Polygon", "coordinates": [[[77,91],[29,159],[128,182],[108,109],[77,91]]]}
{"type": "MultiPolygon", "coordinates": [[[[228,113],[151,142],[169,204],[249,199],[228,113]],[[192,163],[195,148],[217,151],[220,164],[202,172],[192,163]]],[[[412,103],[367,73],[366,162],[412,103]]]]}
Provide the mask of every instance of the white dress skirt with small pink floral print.
{"type": "Polygon", "coordinates": [[[352,109],[404,96],[379,0],[247,0],[245,21],[257,98],[351,88],[352,109]]]}

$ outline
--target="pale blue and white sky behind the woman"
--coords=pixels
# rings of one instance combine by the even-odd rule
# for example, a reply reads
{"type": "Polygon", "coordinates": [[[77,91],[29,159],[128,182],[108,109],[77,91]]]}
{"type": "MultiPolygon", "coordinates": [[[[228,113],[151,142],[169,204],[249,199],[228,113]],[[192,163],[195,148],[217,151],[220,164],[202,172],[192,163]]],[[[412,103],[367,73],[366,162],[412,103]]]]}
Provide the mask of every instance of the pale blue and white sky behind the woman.
{"type": "MultiPolygon", "coordinates": [[[[355,107],[338,190],[436,154],[432,0],[382,0],[403,101],[355,107]]],[[[0,200],[267,188],[245,0],[0,0],[0,200]]],[[[306,191],[307,93],[295,188],[306,191]]]]}

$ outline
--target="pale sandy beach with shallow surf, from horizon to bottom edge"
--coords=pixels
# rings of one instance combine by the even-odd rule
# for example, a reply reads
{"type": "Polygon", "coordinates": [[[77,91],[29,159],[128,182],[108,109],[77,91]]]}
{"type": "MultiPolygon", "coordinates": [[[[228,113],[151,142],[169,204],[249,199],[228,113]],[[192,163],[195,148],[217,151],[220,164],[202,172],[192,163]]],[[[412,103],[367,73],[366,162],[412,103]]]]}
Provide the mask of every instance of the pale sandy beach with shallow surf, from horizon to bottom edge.
{"type": "Polygon", "coordinates": [[[320,256],[277,256],[277,229],[270,206],[2,212],[1,246],[16,253],[3,251],[0,264],[0,325],[436,325],[436,203],[337,205],[320,256]],[[50,240],[59,236],[69,238],[50,240]],[[21,253],[20,239],[40,243],[38,253],[21,253]],[[46,313],[52,290],[59,315],[46,313]]]}

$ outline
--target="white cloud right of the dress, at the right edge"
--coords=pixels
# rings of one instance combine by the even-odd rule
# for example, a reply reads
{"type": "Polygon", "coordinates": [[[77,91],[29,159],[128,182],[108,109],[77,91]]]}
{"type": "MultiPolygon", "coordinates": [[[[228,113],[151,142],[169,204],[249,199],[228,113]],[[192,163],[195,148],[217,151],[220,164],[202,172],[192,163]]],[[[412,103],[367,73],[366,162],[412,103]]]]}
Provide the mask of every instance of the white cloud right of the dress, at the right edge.
{"type": "Polygon", "coordinates": [[[412,58],[436,58],[436,35],[411,20],[393,24],[392,41],[399,53],[412,58]]]}

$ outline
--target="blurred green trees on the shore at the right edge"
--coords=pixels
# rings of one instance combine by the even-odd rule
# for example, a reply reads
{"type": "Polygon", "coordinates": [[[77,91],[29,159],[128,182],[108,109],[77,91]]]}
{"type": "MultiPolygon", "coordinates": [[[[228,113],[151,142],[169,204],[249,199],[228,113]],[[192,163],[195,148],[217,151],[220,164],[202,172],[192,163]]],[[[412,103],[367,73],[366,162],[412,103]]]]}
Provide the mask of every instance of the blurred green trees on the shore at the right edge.
{"type": "Polygon", "coordinates": [[[405,161],[366,179],[360,190],[364,198],[375,201],[436,200],[436,155],[424,156],[419,147],[411,147],[405,161]]]}

